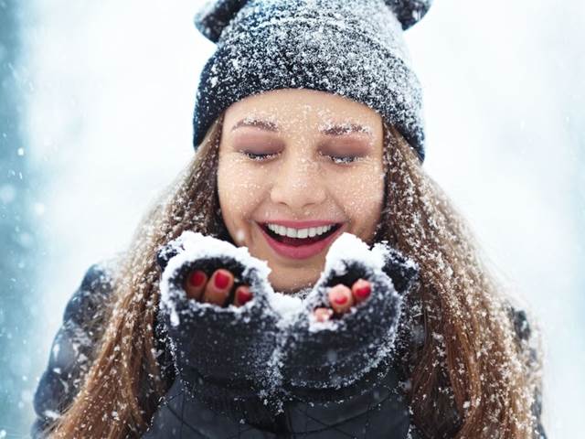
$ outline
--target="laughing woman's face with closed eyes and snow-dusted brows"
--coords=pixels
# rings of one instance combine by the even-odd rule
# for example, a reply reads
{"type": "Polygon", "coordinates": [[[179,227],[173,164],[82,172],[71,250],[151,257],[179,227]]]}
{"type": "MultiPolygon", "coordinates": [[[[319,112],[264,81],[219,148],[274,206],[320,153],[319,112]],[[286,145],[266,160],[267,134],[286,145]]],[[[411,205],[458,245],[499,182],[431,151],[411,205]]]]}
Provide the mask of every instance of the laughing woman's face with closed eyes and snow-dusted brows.
{"type": "Polygon", "coordinates": [[[229,107],[221,212],[234,242],[268,262],[276,291],[314,284],[344,231],[371,242],[383,205],[382,145],[378,112],[323,91],[270,91],[229,107]]]}

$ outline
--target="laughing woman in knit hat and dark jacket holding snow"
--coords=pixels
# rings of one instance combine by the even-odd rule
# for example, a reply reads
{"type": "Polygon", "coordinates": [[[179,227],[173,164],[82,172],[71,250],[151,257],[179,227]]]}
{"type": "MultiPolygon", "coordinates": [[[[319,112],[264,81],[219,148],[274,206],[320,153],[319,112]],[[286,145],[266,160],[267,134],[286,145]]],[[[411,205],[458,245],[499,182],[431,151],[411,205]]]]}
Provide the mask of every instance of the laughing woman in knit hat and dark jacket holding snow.
{"type": "Polygon", "coordinates": [[[526,316],[421,168],[420,87],[401,32],[429,5],[202,11],[218,51],[197,92],[197,155],[128,252],[92,266],[70,300],[34,432],[544,436],[526,316]],[[355,264],[335,275],[326,258],[352,235],[372,250],[354,241],[355,264]],[[272,288],[301,300],[304,318],[283,326],[272,288]],[[352,362],[336,355],[363,348],[352,362]]]}

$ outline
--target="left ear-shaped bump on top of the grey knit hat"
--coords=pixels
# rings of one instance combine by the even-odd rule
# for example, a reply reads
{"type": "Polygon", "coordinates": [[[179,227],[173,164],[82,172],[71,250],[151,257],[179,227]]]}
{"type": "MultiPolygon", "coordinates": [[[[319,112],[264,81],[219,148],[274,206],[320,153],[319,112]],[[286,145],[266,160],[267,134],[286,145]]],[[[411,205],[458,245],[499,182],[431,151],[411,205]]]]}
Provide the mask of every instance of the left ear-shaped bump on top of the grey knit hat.
{"type": "Polygon", "coordinates": [[[194,18],[195,27],[207,39],[217,43],[223,29],[246,3],[248,0],[207,0],[194,18]]]}

